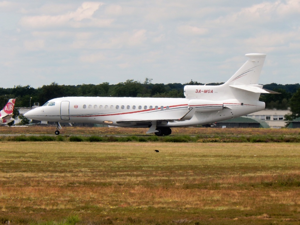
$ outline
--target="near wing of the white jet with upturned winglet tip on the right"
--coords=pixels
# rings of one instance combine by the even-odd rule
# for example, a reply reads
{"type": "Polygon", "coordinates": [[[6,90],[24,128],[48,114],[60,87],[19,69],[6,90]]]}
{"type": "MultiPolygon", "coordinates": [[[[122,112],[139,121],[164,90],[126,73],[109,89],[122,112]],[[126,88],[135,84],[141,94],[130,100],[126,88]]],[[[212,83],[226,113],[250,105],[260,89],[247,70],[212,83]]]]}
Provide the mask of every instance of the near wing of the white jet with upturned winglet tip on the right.
{"type": "Polygon", "coordinates": [[[142,119],[124,119],[124,120],[118,120],[116,121],[117,124],[120,125],[126,125],[126,126],[149,126],[150,129],[147,133],[153,133],[156,132],[156,126],[157,125],[163,125],[167,124],[168,122],[175,122],[175,121],[185,121],[185,120],[190,120],[194,116],[196,112],[196,108],[190,109],[184,116],[181,118],[170,118],[170,119],[158,119],[158,118],[153,118],[153,119],[147,119],[147,120],[142,120],[142,119]],[[151,132],[150,132],[151,131],[151,132]]]}

